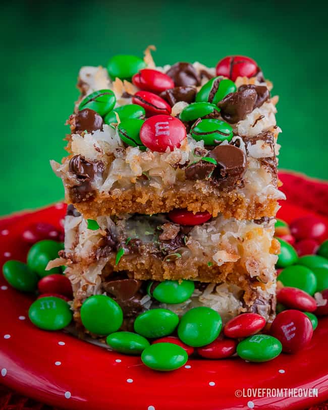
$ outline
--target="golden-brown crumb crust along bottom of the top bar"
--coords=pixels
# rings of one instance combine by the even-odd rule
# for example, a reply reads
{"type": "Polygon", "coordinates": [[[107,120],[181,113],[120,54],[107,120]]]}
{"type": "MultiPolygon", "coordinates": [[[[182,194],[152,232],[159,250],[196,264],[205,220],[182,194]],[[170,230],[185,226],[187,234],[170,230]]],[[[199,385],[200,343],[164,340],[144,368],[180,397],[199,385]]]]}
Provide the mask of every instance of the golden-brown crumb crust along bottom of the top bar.
{"type": "MultiPolygon", "coordinates": [[[[68,203],[73,203],[67,198],[68,203]]],[[[174,208],[187,208],[189,211],[208,211],[213,217],[222,213],[226,218],[259,219],[271,217],[278,210],[278,201],[267,198],[266,201],[245,197],[235,191],[220,192],[215,189],[204,192],[196,184],[184,182],[158,194],[154,189],[131,188],[116,193],[102,193],[88,201],[73,203],[84,218],[95,219],[101,215],[119,215],[122,213],[156,214],[166,213],[174,208]],[[182,190],[182,188],[184,188],[182,190]]]]}

